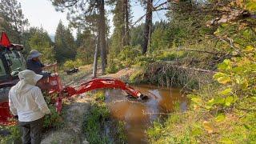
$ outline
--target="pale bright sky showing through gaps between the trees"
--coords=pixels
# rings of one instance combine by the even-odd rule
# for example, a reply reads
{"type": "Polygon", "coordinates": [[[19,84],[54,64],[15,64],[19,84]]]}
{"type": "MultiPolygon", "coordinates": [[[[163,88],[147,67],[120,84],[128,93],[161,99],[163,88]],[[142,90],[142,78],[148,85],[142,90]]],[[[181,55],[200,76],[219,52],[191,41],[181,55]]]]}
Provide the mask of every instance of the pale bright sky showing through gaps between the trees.
{"type": "MultiPolygon", "coordinates": [[[[158,0],[155,4],[159,4],[164,0],[158,0]]],[[[44,30],[48,32],[50,35],[55,34],[55,30],[58,26],[58,22],[62,20],[62,23],[65,26],[68,26],[68,21],[66,19],[66,12],[57,12],[52,6],[50,0],[18,0],[22,5],[22,12],[30,22],[30,26],[42,27],[44,30]]],[[[137,21],[138,18],[142,17],[145,14],[145,10],[139,3],[135,2],[135,0],[131,0],[131,9],[133,15],[133,22],[137,21]]],[[[110,9],[110,7],[106,7],[106,9],[110,9]]],[[[112,18],[113,14],[110,13],[110,10],[107,10],[108,19],[110,20],[110,32],[112,33],[114,30],[112,18]]],[[[154,22],[159,21],[161,19],[166,19],[165,13],[163,11],[154,12],[153,15],[154,22]]],[[[143,22],[143,21],[142,21],[143,22]]],[[[73,30],[73,34],[75,36],[76,31],[73,30]]]]}

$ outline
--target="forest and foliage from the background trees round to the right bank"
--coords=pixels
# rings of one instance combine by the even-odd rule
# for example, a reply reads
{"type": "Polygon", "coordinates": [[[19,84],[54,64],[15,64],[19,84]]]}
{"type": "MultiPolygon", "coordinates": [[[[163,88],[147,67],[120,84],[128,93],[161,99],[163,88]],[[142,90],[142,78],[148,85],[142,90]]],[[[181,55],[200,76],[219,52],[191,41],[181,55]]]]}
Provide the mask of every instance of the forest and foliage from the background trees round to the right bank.
{"type": "Polygon", "coordinates": [[[190,91],[190,108],[154,122],[147,130],[150,142],[256,142],[255,0],[141,0],[146,14],[138,19],[140,25],[130,20],[129,0],[51,2],[56,10],[68,11],[70,27],[78,29],[76,39],[62,22],[54,42],[43,28],[27,30],[15,0],[1,0],[0,30],[26,46],[26,54],[40,50],[44,62],[69,68],[92,63],[97,44],[103,72],[133,67],[138,71],[130,82],[190,91]],[[113,7],[112,35],[106,5],[113,7]],[[153,23],[158,10],[166,10],[167,20],[153,23]]]}

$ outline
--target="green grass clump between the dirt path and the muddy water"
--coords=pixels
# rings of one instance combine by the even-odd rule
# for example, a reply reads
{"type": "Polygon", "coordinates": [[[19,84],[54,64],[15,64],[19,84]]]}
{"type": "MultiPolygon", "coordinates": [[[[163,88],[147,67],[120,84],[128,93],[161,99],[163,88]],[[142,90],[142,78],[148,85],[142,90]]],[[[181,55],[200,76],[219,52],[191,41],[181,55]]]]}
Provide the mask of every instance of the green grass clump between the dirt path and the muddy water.
{"type": "Polygon", "coordinates": [[[92,94],[94,102],[91,103],[90,113],[86,114],[83,124],[83,132],[90,143],[125,143],[125,122],[115,121],[110,118],[110,110],[107,108],[105,94],[99,90],[92,94]],[[106,134],[106,127],[110,134],[106,134]]]}

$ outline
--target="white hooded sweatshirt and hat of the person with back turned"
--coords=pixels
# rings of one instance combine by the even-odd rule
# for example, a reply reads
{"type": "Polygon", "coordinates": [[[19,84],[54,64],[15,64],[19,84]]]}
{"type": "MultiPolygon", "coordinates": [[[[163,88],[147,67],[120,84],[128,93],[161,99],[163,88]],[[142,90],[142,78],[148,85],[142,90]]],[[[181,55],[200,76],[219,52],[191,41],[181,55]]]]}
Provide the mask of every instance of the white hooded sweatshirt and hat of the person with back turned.
{"type": "Polygon", "coordinates": [[[19,72],[20,81],[10,89],[9,106],[14,115],[18,115],[19,122],[32,122],[50,114],[42,91],[35,86],[42,75],[31,70],[19,72]]]}

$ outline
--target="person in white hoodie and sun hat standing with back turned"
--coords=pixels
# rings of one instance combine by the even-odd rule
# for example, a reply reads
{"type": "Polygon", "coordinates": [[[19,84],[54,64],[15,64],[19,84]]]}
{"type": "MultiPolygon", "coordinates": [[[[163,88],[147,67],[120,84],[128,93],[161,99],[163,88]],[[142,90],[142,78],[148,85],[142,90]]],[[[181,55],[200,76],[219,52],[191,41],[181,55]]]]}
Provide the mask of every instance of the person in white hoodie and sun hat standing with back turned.
{"type": "Polygon", "coordinates": [[[50,114],[42,91],[36,83],[42,75],[32,70],[18,73],[20,81],[10,89],[9,106],[22,130],[22,143],[39,144],[42,140],[42,122],[45,114],[50,114]]]}

